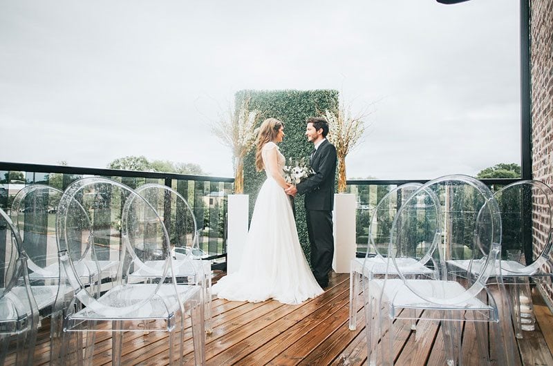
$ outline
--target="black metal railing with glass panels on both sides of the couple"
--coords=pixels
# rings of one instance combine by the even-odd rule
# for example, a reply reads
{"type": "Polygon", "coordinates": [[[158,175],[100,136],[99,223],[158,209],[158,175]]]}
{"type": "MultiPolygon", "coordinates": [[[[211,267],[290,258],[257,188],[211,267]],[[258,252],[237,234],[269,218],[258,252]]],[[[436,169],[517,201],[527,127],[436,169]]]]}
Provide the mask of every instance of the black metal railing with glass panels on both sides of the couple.
{"type": "MultiPolygon", "coordinates": [[[[232,193],[234,178],[0,162],[0,207],[9,211],[11,200],[26,184],[41,183],[64,190],[71,182],[88,176],[109,177],[131,188],[152,182],[171,186],[187,199],[194,211],[201,233],[200,249],[209,253],[209,259],[226,256],[227,196],[232,193]]],[[[497,190],[517,180],[485,179],[482,182],[497,190]]],[[[359,255],[364,256],[366,251],[368,226],[377,202],[396,186],[408,182],[425,183],[428,180],[347,181],[346,192],[357,196],[356,242],[359,255]]],[[[221,264],[221,267],[224,265],[221,264]]]]}

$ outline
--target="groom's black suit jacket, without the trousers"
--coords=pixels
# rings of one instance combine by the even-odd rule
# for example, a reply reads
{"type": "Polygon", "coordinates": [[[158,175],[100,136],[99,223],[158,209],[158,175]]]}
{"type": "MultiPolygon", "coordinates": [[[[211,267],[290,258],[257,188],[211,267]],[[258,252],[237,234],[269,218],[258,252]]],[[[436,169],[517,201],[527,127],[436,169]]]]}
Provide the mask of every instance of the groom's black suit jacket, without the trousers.
{"type": "Polygon", "coordinates": [[[332,211],[336,179],[336,148],[324,140],[311,159],[315,175],[297,185],[299,194],[306,195],[306,209],[332,211]]]}

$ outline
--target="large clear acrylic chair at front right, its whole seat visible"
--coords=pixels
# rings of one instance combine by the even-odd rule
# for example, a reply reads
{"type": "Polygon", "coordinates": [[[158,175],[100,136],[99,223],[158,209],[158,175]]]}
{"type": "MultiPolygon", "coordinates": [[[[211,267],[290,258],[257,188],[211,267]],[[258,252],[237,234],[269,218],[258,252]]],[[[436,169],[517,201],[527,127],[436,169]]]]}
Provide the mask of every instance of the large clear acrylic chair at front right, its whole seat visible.
{"type": "MultiPolygon", "coordinates": [[[[496,357],[494,361],[498,365],[512,365],[514,337],[508,331],[512,330],[508,300],[503,291],[492,296],[486,287],[500,254],[500,240],[499,207],[482,182],[465,175],[451,175],[432,180],[415,191],[402,204],[392,223],[391,256],[386,266],[392,276],[364,281],[364,286],[371,289],[371,299],[366,300],[366,314],[368,319],[374,318],[379,327],[367,341],[368,363],[393,364],[398,325],[414,317],[416,320],[440,320],[448,365],[463,364],[463,321],[473,322],[476,327],[478,363],[489,364],[491,358],[496,357]],[[438,247],[433,251],[435,279],[406,276],[393,250],[400,247],[413,250],[417,246],[418,229],[424,227],[426,220],[424,215],[418,214],[418,197],[423,191],[433,192],[440,200],[438,227],[443,228],[443,232],[442,240],[438,240],[438,247]],[[482,272],[475,276],[470,271],[449,266],[449,262],[460,259],[469,260],[469,267],[473,262],[483,262],[482,272]],[[489,331],[487,325],[493,331],[489,331]],[[494,336],[491,340],[490,335],[494,336]]],[[[498,284],[502,283],[498,278],[498,284]]]]}

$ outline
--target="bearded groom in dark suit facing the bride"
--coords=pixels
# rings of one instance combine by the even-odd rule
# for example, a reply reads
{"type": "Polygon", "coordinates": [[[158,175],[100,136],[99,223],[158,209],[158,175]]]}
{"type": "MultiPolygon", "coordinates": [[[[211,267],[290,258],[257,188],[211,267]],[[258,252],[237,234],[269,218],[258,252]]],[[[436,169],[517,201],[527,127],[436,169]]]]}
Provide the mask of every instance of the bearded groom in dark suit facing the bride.
{"type": "Polygon", "coordinates": [[[290,186],[286,193],[306,195],[306,218],[311,244],[313,275],[322,288],[328,287],[328,272],[332,268],[334,237],[332,236],[332,206],[336,177],[336,148],[326,139],[328,122],[319,117],[309,117],[306,136],[315,146],[310,165],[315,171],[297,186],[290,186]]]}

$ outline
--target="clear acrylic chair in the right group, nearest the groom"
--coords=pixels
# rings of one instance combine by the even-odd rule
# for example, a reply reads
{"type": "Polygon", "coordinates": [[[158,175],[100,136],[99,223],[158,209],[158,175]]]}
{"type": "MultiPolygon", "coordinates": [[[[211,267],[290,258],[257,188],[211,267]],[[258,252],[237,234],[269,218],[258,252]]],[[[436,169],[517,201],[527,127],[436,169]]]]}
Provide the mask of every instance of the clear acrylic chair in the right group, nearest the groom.
{"type": "MultiPolygon", "coordinates": [[[[388,257],[388,242],[390,239],[390,229],[397,213],[397,209],[400,208],[402,202],[404,202],[411,193],[418,189],[422,184],[420,183],[406,183],[401,186],[397,186],[378,202],[376,209],[371,217],[371,224],[368,227],[368,247],[366,256],[364,258],[354,258],[350,262],[350,303],[349,303],[349,329],[355,330],[357,323],[357,299],[359,296],[359,289],[361,289],[362,274],[370,273],[371,276],[384,275],[386,273],[386,267],[378,266],[378,264],[386,264],[386,258],[388,257]],[[364,267],[366,269],[364,270],[364,267]],[[375,273],[379,272],[379,273],[375,273]]],[[[431,204],[433,202],[431,201],[431,204]]],[[[428,240],[433,240],[433,233],[435,232],[434,226],[427,226],[427,232],[430,233],[428,240]]],[[[431,242],[429,242],[431,243],[431,242]]],[[[432,275],[432,269],[429,269],[426,264],[431,259],[428,250],[435,247],[434,245],[420,247],[418,258],[406,257],[403,259],[402,265],[409,267],[413,276],[417,274],[432,275]]],[[[399,260],[399,259],[398,259],[399,260]]],[[[414,326],[414,325],[413,325],[414,326]]]]}

